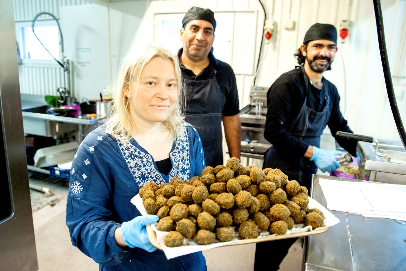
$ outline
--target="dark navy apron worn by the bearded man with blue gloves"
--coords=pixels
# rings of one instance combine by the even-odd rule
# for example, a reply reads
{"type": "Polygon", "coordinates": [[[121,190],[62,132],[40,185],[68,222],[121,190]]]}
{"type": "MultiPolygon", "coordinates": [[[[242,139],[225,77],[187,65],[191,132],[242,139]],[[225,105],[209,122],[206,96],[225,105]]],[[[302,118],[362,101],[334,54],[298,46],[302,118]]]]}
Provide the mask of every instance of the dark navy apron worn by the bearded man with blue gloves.
{"type": "MultiPolygon", "coordinates": [[[[298,116],[288,128],[289,133],[296,138],[306,142],[311,146],[320,148],[320,136],[328,123],[332,109],[330,108],[330,96],[325,96],[326,107],[322,112],[316,112],[306,105],[307,94],[309,93],[309,78],[301,67],[306,87],[304,103],[298,116]]],[[[324,84],[324,87],[329,87],[324,84]]],[[[329,93],[329,91],[327,91],[329,93]]],[[[279,168],[289,180],[296,180],[301,186],[306,186],[310,190],[311,176],[317,172],[317,166],[306,157],[281,157],[274,146],[265,153],[263,168],[279,168]]]]}

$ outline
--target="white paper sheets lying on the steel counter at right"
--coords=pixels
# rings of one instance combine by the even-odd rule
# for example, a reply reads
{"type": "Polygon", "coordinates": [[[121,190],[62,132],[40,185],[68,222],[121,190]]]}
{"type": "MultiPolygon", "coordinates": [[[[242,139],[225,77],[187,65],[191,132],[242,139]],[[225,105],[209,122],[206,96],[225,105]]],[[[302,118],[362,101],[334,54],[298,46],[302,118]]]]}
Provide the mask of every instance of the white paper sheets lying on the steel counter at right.
{"type": "Polygon", "coordinates": [[[406,220],[406,185],[319,179],[327,209],[406,220]]]}

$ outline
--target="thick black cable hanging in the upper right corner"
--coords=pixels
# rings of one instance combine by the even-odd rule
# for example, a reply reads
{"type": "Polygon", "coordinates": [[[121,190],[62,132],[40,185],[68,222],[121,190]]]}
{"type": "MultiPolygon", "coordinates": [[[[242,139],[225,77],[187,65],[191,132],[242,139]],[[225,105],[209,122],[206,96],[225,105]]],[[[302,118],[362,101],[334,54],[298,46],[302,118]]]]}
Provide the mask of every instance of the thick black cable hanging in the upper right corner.
{"type": "Polygon", "coordinates": [[[406,149],[406,132],[402,123],[402,118],[399,114],[399,108],[397,107],[395,92],[393,91],[392,76],[391,70],[389,68],[389,58],[385,43],[385,33],[380,0],[374,0],[374,11],[376,20],[376,31],[378,32],[379,51],[382,61],[386,90],[388,92],[389,104],[391,105],[393,118],[395,119],[395,124],[397,131],[399,132],[400,139],[402,140],[403,146],[406,149]]]}

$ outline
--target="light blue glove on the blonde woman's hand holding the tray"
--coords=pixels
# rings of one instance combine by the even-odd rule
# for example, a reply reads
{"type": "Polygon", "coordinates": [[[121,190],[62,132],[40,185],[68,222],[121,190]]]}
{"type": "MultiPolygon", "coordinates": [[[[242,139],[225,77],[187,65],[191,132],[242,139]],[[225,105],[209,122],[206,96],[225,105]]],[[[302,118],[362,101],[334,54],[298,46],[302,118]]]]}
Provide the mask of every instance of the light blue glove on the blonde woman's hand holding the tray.
{"type": "Polygon", "coordinates": [[[137,216],[131,221],[126,221],[121,224],[121,235],[125,243],[131,248],[139,247],[148,252],[156,250],[148,239],[146,225],[150,225],[158,221],[159,217],[154,214],[147,214],[145,216],[137,216]]]}

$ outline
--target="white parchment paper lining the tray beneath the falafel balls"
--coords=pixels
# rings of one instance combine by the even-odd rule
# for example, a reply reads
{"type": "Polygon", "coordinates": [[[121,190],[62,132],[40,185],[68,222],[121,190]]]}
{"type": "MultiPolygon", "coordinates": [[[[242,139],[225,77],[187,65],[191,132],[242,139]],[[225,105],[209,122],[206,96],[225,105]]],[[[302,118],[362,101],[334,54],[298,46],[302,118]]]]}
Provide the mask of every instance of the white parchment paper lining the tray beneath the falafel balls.
{"type": "MultiPolygon", "coordinates": [[[[131,203],[137,207],[138,211],[140,211],[141,214],[147,214],[147,212],[145,211],[144,205],[143,205],[143,200],[140,198],[139,194],[137,194],[135,197],[133,197],[131,199],[131,203]]],[[[309,209],[317,208],[324,213],[323,227],[319,227],[317,229],[312,229],[311,226],[304,227],[304,224],[297,224],[297,225],[294,225],[294,227],[292,229],[288,229],[286,234],[293,234],[293,233],[298,233],[298,232],[308,232],[308,231],[312,231],[312,230],[317,231],[320,229],[324,229],[325,227],[331,227],[340,222],[340,220],[334,214],[332,214],[330,211],[328,211],[320,203],[318,203],[311,197],[309,197],[308,206],[309,206],[309,209]]],[[[242,238],[240,238],[240,236],[237,233],[236,234],[237,237],[229,242],[218,242],[218,243],[213,243],[210,245],[197,245],[196,243],[194,243],[194,241],[192,239],[185,238],[183,246],[166,247],[164,245],[164,237],[166,236],[166,234],[168,234],[168,232],[159,231],[156,228],[156,225],[158,225],[158,222],[155,222],[154,224],[152,224],[151,228],[156,233],[156,239],[157,239],[158,243],[160,243],[162,245],[165,256],[168,260],[178,257],[178,256],[194,253],[197,251],[203,251],[203,250],[212,249],[215,247],[222,247],[226,244],[235,243],[235,242],[242,240],[242,238]]],[[[257,238],[263,238],[263,237],[268,237],[268,236],[276,236],[276,234],[269,234],[269,232],[261,232],[257,238]]]]}

